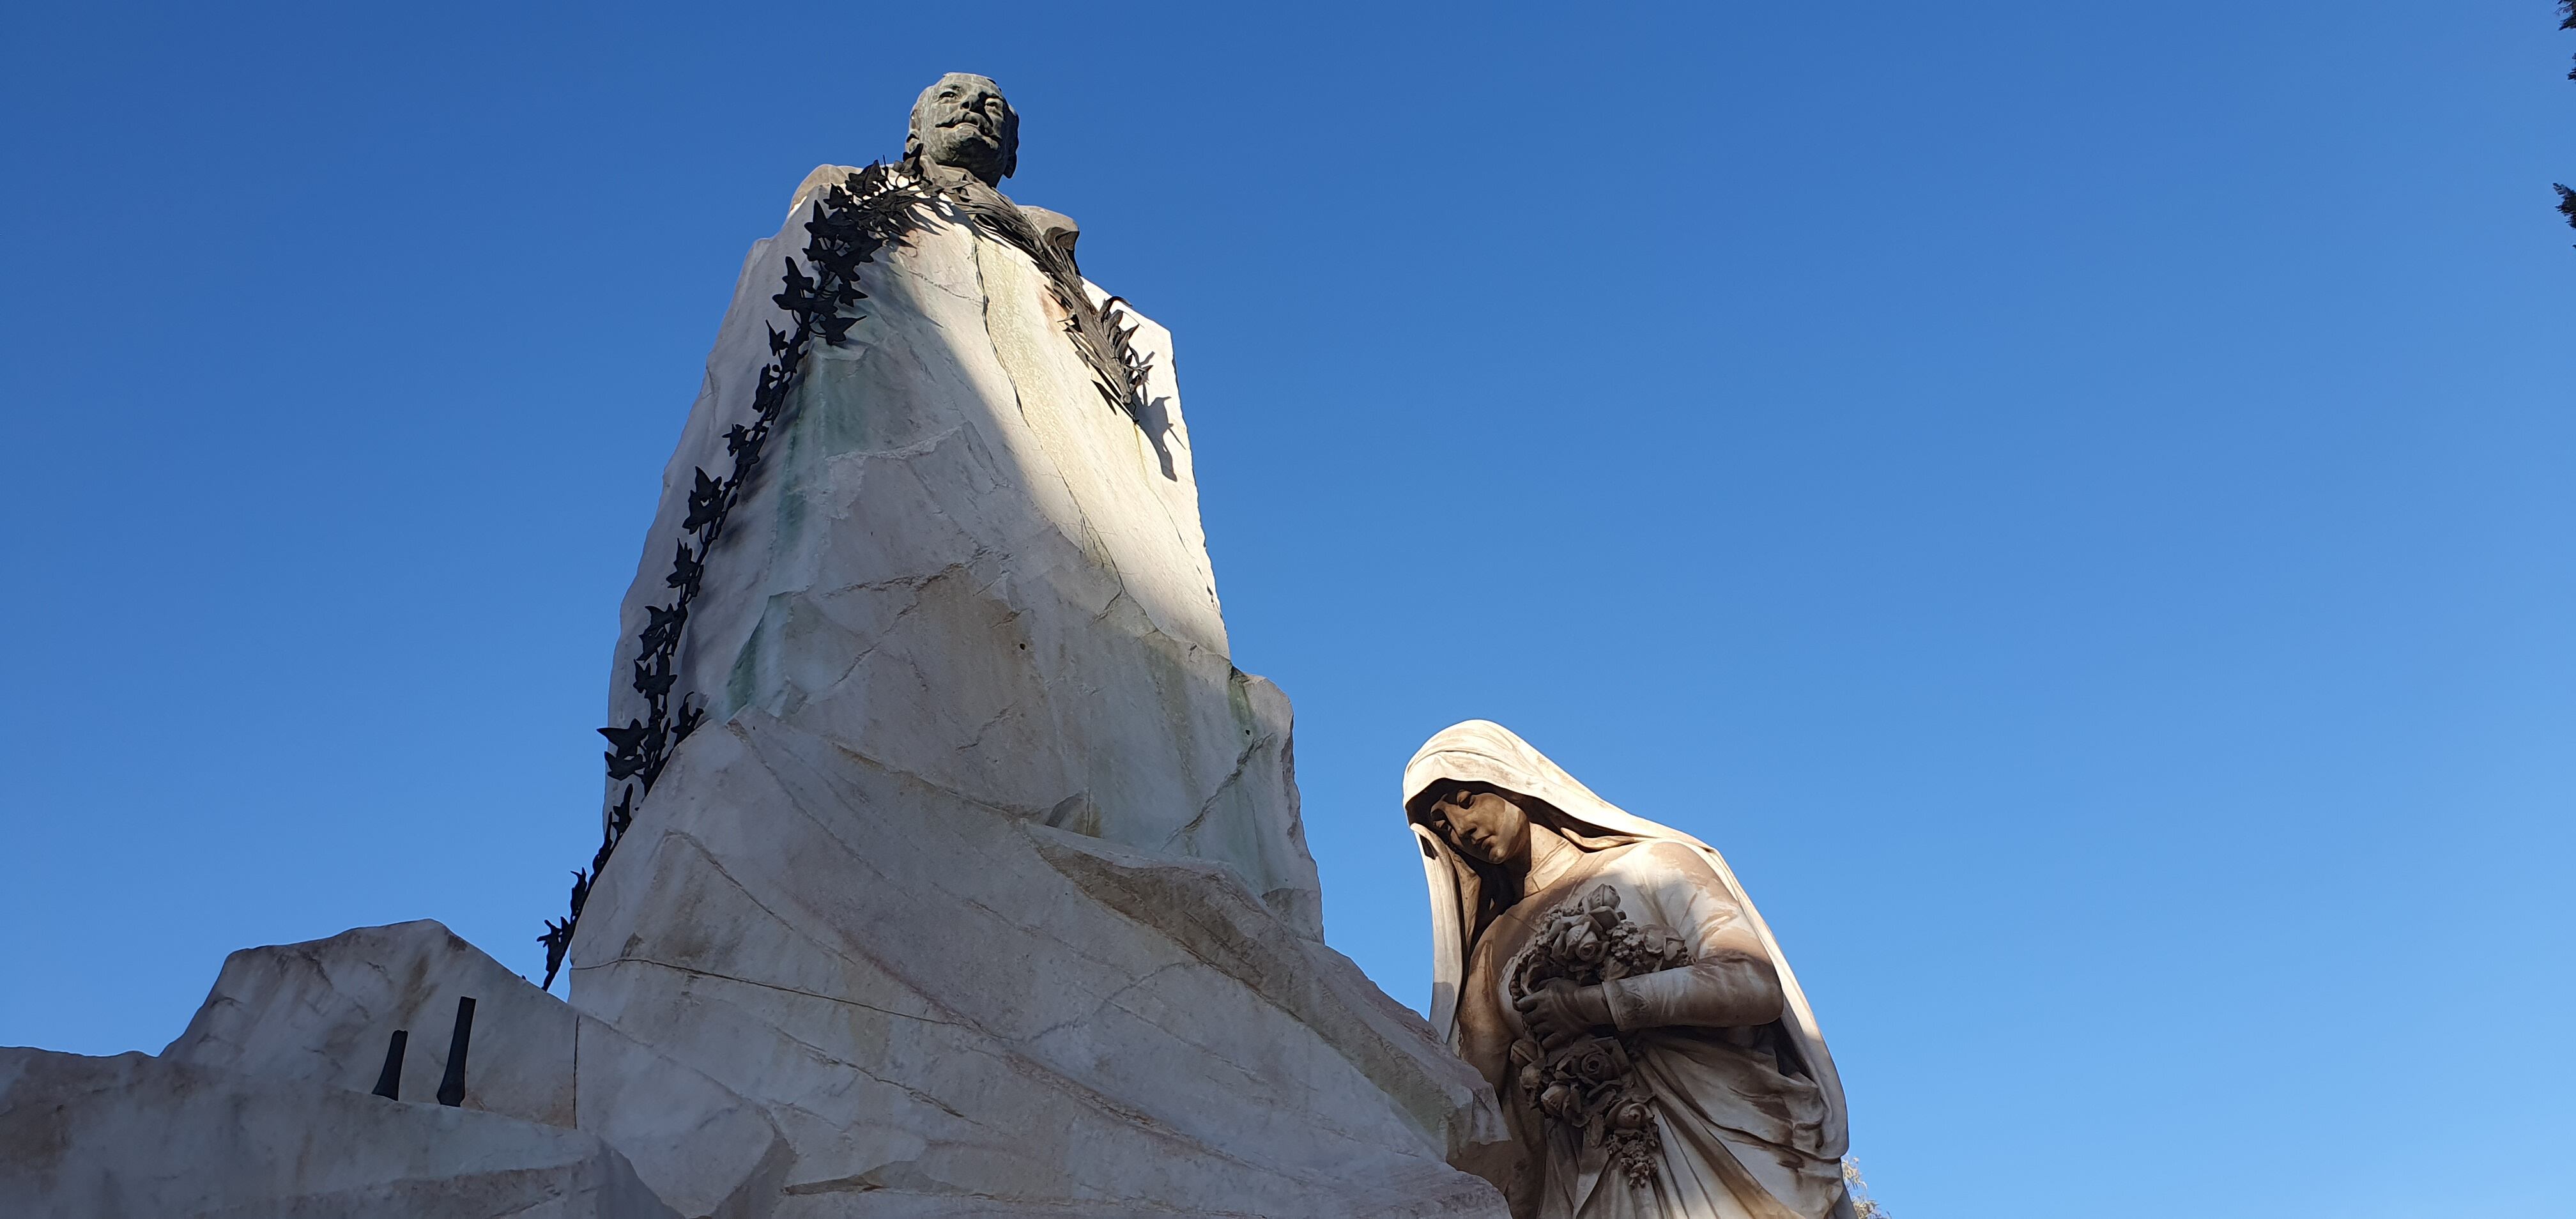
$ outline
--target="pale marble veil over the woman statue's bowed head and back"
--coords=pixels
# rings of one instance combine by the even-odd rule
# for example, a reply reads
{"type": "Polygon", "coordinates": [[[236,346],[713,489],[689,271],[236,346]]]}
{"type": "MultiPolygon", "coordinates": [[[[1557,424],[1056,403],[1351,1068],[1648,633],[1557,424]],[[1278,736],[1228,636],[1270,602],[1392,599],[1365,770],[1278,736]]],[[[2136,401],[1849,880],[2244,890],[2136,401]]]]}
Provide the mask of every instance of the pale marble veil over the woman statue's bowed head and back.
{"type": "MultiPolygon", "coordinates": [[[[1762,938],[1762,951],[1770,954],[1772,966],[1780,972],[1780,990],[1788,992],[1788,1010],[1783,1013],[1780,1028],[1795,1039],[1798,1054],[1816,1072],[1816,1085],[1824,1090],[1826,1144],[1842,1144],[1842,1075],[1834,1072],[1834,1057],[1824,1049],[1824,1033],[1816,1028],[1816,1013],[1806,1005],[1806,992],[1798,990],[1798,974],[1788,969],[1788,956],[1780,954],[1780,941],[1772,938],[1770,923],[1762,923],[1762,912],[1754,910],[1754,899],[1744,894],[1744,884],[1736,881],[1736,871],[1726,866],[1726,856],[1721,856],[1718,848],[1595,796],[1592,789],[1582,786],[1566,773],[1566,768],[1556,765],[1548,755],[1533,750],[1530,742],[1492,719],[1450,724],[1432,740],[1422,742],[1414,760],[1404,763],[1404,807],[1409,809],[1414,796],[1440,781],[1492,783],[1504,791],[1543,799],[1574,822],[1566,830],[1574,830],[1571,838],[1577,838],[1577,845],[1597,848],[1600,840],[1607,840],[1602,845],[1615,845],[1651,838],[1682,843],[1698,850],[1708,861],[1708,869],[1726,881],[1726,892],[1734,894],[1736,905],[1744,910],[1744,920],[1752,925],[1754,936],[1762,938]]],[[[1414,843],[1422,848],[1422,876],[1432,897],[1432,1028],[1443,1041],[1455,1046],[1458,987],[1466,982],[1466,951],[1473,946],[1473,936],[1479,930],[1476,907],[1484,881],[1476,869],[1450,850],[1448,840],[1409,817],[1406,822],[1414,830],[1414,843]]]]}

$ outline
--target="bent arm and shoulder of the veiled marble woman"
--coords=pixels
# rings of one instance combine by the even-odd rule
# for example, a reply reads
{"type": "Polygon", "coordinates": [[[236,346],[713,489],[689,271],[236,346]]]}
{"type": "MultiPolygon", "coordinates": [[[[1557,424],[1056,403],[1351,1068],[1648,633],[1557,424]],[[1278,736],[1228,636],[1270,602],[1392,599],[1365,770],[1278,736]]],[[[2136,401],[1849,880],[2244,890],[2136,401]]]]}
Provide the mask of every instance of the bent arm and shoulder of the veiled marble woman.
{"type": "Polygon", "coordinates": [[[1780,1018],[1785,995],[1762,938],[1744,925],[1726,881],[1680,843],[1636,850],[1631,887],[1646,897],[1638,920],[1659,920],[1690,946],[1690,964],[1602,982],[1610,1021],[1623,1031],[1703,1026],[1744,1028],[1780,1018]]]}

